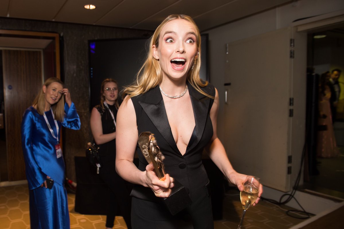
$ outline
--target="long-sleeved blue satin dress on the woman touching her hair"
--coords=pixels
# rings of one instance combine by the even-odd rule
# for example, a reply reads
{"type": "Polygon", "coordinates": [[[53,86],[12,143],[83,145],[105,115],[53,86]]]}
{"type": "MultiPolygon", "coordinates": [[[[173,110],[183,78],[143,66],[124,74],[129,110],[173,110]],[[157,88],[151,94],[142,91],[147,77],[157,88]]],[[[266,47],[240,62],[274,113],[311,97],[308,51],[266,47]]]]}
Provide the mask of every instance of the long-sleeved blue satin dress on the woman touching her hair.
{"type": "MultiPolygon", "coordinates": [[[[63,122],[57,121],[59,130],[61,126],[73,130],[80,129],[80,119],[74,103],[71,107],[66,103],[64,109],[63,122]]],[[[46,111],[45,115],[56,136],[52,112],[46,111]]],[[[49,131],[43,115],[33,107],[24,112],[21,131],[25,172],[30,189],[31,228],[70,228],[67,192],[64,187],[65,164],[63,156],[57,158],[57,139],[49,131]],[[47,176],[54,180],[52,189],[41,187],[47,176]]]]}

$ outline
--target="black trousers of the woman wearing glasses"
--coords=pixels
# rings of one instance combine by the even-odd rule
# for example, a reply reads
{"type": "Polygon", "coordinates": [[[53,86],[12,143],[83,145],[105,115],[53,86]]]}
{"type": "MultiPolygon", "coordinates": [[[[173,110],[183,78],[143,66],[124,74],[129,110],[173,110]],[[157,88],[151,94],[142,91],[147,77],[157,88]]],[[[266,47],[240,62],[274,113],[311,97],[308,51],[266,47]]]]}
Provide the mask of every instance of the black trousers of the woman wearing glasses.
{"type": "Polygon", "coordinates": [[[116,215],[123,216],[128,229],[131,229],[131,197],[132,184],[123,180],[116,172],[115,157],[100,156],[102,166],[100,177],[109,187],[106,227],[114,227],[116,215]]]}

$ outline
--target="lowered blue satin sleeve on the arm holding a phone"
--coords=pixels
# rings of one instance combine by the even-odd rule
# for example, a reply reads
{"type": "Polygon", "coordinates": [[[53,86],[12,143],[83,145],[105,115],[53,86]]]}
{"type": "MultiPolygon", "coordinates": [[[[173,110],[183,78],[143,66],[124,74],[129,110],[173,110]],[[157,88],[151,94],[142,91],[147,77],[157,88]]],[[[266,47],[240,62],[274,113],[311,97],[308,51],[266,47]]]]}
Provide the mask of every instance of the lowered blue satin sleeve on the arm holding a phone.
{"type": "Polygon", "coordinates": [[[29,189],[34,189],[45,181],[46,175],[42,172],[40,166],[37,164],[33,152],[33,129],[36,124],[34,121],[34,114],[30,109],[25,110],[21,124],[22,133],[22,149],[25,161],[26,178],[28,179],[29,189]]]}

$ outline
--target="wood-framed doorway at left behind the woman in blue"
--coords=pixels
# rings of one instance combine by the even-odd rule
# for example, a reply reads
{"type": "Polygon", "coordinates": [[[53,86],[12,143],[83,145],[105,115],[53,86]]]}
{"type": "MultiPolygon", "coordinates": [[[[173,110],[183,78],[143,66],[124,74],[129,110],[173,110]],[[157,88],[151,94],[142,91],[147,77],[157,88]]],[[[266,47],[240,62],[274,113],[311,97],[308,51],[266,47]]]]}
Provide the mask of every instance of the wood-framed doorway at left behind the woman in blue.
{"type": "Polygon", "coordinates": [[[58,33],[0,30],[0,187],[25,182],[21,119],[46,78],[60,78],[58,33]]]}

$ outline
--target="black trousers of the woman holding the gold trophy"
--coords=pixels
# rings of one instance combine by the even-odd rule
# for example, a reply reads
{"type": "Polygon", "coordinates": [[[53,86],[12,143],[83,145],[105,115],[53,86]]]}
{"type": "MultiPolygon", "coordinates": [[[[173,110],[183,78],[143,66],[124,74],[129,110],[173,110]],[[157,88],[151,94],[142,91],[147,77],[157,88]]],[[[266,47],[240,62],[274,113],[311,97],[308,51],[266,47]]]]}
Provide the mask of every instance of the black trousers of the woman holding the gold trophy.
{"type": "Polygon", "coordinates": [[[192,204],[172,216],[163,203],[132,197],[131,225],[134,229],[213,229],[211,199],[206,186],[191,192],[192,204]]]}

